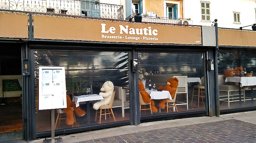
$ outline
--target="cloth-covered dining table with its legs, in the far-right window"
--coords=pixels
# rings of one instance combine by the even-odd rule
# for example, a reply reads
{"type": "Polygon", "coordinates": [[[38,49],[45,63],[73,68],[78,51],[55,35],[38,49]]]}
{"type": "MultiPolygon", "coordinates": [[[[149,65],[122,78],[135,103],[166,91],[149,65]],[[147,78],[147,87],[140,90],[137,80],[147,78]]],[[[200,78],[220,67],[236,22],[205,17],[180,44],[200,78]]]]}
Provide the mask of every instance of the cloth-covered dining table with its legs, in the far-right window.
{"type": "Polygon", "coordinates": [[[251,103],[253,104],[253,88],[252,86],[256,86],[256,77],[226,77],[225,82],[238,82],[239,83],[239,103],[241,105],[241,88],[243,86],[251,86],[251,103]]]}

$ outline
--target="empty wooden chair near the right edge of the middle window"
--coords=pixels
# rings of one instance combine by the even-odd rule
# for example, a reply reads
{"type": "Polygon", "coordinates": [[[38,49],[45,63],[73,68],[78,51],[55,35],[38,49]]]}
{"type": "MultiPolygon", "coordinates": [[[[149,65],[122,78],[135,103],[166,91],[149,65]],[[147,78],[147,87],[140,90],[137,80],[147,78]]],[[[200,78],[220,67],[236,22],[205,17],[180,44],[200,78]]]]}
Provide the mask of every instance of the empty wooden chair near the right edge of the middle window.
{"type": "Polygon", "coordinates": [[[193,103],[193,97],[197,96],[198,97],[198,106],[199,107],[199,99],[200,97],[202,98],[203,104],[204,104],[204,97],[205,97],[205,86],[204,86],[204,77],[201,78],[202,83],[198,83],[197,86],[193,86],[193,91],[192,91],[192,99],[191,99],[191,107],[193,103]],[[197,92],[197,95],[194,95],[194,92],[197,92]],[[203,94],[204,93],[204,94],[203,94]]]}

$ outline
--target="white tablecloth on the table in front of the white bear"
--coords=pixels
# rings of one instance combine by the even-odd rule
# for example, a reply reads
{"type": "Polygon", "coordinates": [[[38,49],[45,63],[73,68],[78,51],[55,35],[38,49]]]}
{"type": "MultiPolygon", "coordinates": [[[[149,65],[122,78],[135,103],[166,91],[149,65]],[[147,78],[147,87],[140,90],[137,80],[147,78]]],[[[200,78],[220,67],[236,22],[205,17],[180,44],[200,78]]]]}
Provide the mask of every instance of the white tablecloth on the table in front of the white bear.
{"type": "Polygon", "coordinates": [[[98,94],[74,96],[72,101],[75,102],[76,107],[78,107],[79,102],[93,101],[93,100],[103,100],[104,101],[103,97],[98,94]]]}

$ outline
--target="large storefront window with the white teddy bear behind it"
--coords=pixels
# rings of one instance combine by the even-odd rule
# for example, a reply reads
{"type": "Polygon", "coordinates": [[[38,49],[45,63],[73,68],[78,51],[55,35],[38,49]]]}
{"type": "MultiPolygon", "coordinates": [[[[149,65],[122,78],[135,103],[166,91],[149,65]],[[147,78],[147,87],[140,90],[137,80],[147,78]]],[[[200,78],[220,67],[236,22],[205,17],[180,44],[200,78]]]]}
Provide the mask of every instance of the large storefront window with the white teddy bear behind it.
{"type": "MultiPolygon", "coordinates": [[[[112,113],[102,115],[100,120],[100,109],[98,109],[96,115],[96,109],[93,107],[93,105],[100,100],[80,102],[78,107],[73,107],[74,116],[69,116],[69,118],[73,118],[72,120],[75,120],[75,122],[70,125],[70,120],[58,120],[55,125],[55,130],[130,120],[127,52],[34,51],[34,60],[36,83],[36,132],[51,130],[51,111],[38,110],[39,66],[65,67],[67,98],[71,101],[80,95],[99,95],[100,92],[102,92],[100,90],[101,87],[107,81],[113,83],[108,84],[109,88],[114,86],[115,94],[111,94],[114,98],[113,100],[110,99],[110,103],[113,103],[112,106],[110,105],[107,108],[100,107],[100,109],[102,108],[101,114],[113,111],[114,115],[112,113]],[[91,90],[86,92],[89,88],[91,90]],[[86,114],[83,115],[85,112],[86,114]]],[[[107,93],[108,91],[106,90],[107,89],[105,88],[105,92],[107,93]]],[[[66,116],[60,117],[61,115],[66,115],[65,110],[56,109],[55,120],[57,118],[66,118],[66,116]]]]}

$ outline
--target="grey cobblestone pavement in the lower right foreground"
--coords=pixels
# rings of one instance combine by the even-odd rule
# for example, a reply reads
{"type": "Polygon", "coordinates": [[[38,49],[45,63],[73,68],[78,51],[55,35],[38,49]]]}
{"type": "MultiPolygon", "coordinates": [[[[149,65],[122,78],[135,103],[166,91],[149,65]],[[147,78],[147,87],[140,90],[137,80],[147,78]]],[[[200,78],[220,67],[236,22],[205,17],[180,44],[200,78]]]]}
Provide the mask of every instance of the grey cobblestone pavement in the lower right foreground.
{"type": "MultiPolygon", "coordinates": [[[[256,125],[230,119],[91,139],[79,143],[256,143],[256,125]]],[[[78,142],[76,142],[78,143],[78,142]]]]}

